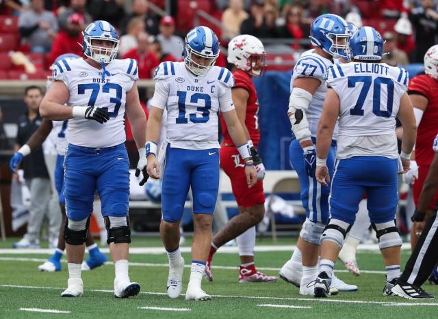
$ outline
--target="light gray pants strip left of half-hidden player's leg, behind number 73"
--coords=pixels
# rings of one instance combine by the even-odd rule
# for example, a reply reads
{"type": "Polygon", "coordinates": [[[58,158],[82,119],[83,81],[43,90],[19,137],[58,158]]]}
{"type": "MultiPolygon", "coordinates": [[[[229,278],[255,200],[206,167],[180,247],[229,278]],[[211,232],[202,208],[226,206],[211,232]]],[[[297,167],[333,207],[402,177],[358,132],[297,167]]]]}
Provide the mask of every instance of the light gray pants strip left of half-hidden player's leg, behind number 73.
{"type": "Polygon", "coordinates": [[[60,226],[62,221],[60,197],[55,187],[55,167],[57,155],[44,154],[47,171],[49,172],[51,197],[49,202],[49,211],[47,217],[49,219],[49,242],[55,244],[58,234],[60,234],[60,226]]]}

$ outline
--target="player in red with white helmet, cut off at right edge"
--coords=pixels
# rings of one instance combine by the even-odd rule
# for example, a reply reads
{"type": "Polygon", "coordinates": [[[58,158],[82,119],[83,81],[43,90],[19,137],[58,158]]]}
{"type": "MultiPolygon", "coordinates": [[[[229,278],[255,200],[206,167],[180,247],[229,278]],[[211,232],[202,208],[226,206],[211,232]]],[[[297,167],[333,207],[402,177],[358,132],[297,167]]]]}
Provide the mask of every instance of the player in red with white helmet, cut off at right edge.
{"type": "MultiPolygon", "coordinates": [[[[409,81],[408,94],[414,107],[417,120],[417,141],[415,143],[415,163],[411,159],[411,174],[417,180],[413,182],[413,199],[415,207],[428,174],[435,152],[430,147],[438,134],[438,45],[431,46],[424,55],[424,72],[409,81]],[[416,166],[418,171],[416,172],[416,166]],[[417,173],[417,174],[416,174],[417,173]]],[[[428,206],[428,214],[432,214],[438,202],[438,191],[428,206]]],[[[415,247],[421,234],[422,223],[414,223],[411,229],[411,245],[415,247]]]]}

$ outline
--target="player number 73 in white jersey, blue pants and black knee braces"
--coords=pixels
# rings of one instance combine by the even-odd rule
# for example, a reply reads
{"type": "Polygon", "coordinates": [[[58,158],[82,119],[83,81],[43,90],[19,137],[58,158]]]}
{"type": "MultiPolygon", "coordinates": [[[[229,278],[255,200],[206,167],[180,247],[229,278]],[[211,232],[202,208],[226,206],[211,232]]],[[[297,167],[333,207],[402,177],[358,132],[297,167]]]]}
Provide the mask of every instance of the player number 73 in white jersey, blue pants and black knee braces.
{"type": "Polygon", "coordinates": [[[110,23],[95,21],[83,31],[86,59],[62,59],[53,69],[54,83],[42,100],[42,117],[69,120],[64,161],[67,221],[64,229],[68,259],[68,288],[61,296],[82,296],[81,263],[94,194],[101,199],[110,252],[116,268],[114,295],[140,292],[128,275],[129,160],[125,148],[124,114],[132,126],[143,171],[146,115],[140,105],[137,63],[116,59],[118,35],[110,23]],[[125,109],[126,108],[126,109],[125,109]]]}

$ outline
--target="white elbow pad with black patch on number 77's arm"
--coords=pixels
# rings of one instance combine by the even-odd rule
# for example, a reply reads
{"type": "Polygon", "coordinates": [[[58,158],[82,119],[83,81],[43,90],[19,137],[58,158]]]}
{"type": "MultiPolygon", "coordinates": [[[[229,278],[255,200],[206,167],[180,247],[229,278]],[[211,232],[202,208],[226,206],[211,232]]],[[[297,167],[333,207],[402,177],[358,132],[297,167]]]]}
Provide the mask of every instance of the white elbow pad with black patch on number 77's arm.
{"type": "Polygon", "coordinates": [[[310,139],[311,133],[309,129],[309,122],[307,122],[306,111],[312,100],[312,95],[305,89],[294,87],[289,98],[289,109],[287,115],[289,116],[290,124],[292,124],[292,132],[298,141],[305,141],[310,139]]]}

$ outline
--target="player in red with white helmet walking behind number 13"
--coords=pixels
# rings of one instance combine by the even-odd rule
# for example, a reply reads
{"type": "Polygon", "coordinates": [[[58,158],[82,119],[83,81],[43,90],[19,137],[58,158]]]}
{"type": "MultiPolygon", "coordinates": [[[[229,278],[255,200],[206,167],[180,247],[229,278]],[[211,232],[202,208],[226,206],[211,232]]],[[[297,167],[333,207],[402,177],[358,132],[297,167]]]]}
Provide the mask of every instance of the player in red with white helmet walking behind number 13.
{"type": "MultiPolygon", "coordinates": [[[[216,250],[236,238],[240,255],[239,282],[270,282],[276,281],[277,277],[259,273],[254,265],[255,247],[255,225],[257,225],[265,214],[263,193],[263,178],[265,167],[257,153],[257,145],[260,140],[259,123],[257,112],[259,102],[257,93],[251,77],[259,77],[266,57],[265,49],[259,39],[254,36],[241,35],[233,38],[228,45],[228,61],[233,64],[233,102],[240,122],[244,127],[246,138],[251,142],[250,150],[257,170],[257,183],[253,188],[248,189],[245,175],[242,171],[245,168],[244,161],[240,158],[239,151],[234,145],[227,125],[221,119],[224,142],[220,149],[220,166],[231,179],[233,195],[239,206],[239,214],[233,217],[214,236],[211,242],[211,249],[205,267],[205,276],[213,281],[211,273],[211,259],[216,250]]],[[[248,142],[249,143],[249,142],[248,142]]],[[[239,146],[239,145],[237,145],[239,146]]]]}

